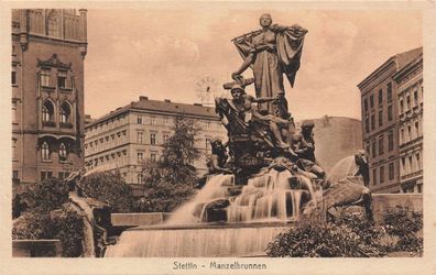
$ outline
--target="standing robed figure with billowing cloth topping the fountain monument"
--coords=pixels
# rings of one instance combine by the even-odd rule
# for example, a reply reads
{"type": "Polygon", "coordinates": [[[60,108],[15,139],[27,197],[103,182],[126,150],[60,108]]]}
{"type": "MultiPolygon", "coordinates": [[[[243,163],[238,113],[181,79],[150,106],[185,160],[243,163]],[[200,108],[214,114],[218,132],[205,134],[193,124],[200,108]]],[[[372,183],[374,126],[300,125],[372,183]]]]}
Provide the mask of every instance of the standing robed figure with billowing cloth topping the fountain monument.
{"type": "MultiPolygon", "coordinates": [[[[232,40],[243,58],[240,68],[232,74],[233,79],[248,68],[253,69],[255,96],[274,97],[284,92],[283,74],[291,86],[299,68],[304,36],[307,30],[299,25],[283,26],[272,24],[270,14],[262,14],[261,30],[232,40]]],[[[274,113],[272,105],[261,105],[260,112],[274,113]]]]}

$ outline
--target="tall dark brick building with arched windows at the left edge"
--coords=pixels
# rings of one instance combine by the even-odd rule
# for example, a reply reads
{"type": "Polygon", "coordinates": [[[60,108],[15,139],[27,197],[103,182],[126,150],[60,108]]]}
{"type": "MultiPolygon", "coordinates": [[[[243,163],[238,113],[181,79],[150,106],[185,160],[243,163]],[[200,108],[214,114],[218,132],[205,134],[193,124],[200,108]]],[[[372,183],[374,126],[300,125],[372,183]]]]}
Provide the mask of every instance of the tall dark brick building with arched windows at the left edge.
{"type": "Polygon", "coordinates": [[[84,165],[87,11],[12,11],[12,178],[64,178],[84,165]]]}

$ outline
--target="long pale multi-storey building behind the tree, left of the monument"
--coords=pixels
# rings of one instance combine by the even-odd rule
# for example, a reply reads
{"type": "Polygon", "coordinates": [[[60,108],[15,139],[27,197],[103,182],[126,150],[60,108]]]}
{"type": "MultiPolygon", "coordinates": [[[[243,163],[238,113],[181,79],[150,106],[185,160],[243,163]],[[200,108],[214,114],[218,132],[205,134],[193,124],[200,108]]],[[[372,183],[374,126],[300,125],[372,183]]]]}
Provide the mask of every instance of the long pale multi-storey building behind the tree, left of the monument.
{"type": "Polygon", "coordinates": [[[142,184],[141,164],[144,160],[161,157],[163,143],[172,134],[177,116],[193,119],[201,129],[196,146],[200,157],[194,162],[198,174],[206,172],[206,156],[210,140],[227,140],[227,131],[215,113],[215,108],[201,105],[175,103],[170,100],[139,101],[86,124],[85,163],[88,169],[118,169],[128,184],[142,184]]]}

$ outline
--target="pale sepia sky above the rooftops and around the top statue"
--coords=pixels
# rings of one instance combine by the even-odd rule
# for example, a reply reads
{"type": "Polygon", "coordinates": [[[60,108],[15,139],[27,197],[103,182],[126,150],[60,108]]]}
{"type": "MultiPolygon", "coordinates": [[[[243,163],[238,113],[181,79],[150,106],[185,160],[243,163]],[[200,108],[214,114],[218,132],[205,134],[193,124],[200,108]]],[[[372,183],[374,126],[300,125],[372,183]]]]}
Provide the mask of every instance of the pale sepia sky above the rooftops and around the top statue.
{"type": "Polygon", "coordinates": [[[360,119],[356,86],[392,55],[423,44],[418,11],[90,9],[85,112],[98,118],[140,96],[200,102],[197,87],[206,77],[216,96],[226,95],[222,84],[242,64],[230,41],[259,30],[265,12],[273,23],[308,30],[294,88],[285,81],[296,120],[360,119]]]}

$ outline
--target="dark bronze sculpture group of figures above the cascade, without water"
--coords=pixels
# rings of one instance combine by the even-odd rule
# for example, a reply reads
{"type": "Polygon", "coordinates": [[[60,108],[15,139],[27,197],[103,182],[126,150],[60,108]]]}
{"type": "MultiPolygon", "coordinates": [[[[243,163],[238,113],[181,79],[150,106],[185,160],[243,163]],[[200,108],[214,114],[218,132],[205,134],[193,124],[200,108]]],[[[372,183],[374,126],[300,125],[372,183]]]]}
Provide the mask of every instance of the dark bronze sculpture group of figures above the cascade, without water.
{"type": "MultiPolygon", "coordinates": [[[[361,205],[370,217],[366,153],[356,153],[352,174],[329,179],[315,156],[314,123],[304,121],[297,130],[288,111],[283,79],[294,86],[307,30],[272,24],[270,14],[261,15],[260,25],[261,30],[232,40],[243,63],[232,74],[232,81],[224,85],[231,98],[216,98],[216,112],[228,131],[228,141],[211,141],[209,175],[233,174],[237,185],[247,185],[271,169],[287,169],[310,179],[314,188],[324,193],[323,204],[328,208],[361,205]],[[241,74],[249,67],[253,78],[244,79],[241,74]],[[255,97],[246,92],[251,84],[255,97]]],[[[304,188],[307,184],[298,178],[294,177],[294,188],[304,188]]],[[[319,208],[319,201],[308,204],[305,211],[319,208]]]]}

